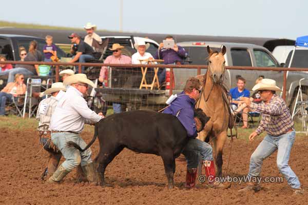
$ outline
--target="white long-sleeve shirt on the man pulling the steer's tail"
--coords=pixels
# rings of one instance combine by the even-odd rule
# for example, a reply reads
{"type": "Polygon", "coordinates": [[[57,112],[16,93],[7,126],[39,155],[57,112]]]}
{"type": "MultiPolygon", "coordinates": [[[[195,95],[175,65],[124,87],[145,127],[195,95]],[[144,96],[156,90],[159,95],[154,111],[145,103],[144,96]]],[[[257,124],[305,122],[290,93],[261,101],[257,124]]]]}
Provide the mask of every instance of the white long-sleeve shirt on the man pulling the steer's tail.
{"type": "Polygon", "coordinates": [[[84,129],[85,119],[95,123],[102,118],[88,107],[83,94],[70,86],[56,105],[51,116],[50,129],[81,133],[84,129]]]}

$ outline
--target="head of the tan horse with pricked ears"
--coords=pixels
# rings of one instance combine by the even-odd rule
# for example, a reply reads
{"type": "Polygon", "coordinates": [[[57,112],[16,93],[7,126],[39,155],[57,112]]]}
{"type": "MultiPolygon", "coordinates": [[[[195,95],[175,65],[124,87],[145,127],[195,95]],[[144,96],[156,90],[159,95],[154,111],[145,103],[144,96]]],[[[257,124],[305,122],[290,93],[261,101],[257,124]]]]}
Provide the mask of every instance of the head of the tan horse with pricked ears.
{"type": "Polygon", "coordinates": [[[207,46],[209,74],[214,83],[220,83],[225,71],[225,59],[223,55],[226,53],[226,47],[222,46],[221,51],[213,51],[207,46]]]}

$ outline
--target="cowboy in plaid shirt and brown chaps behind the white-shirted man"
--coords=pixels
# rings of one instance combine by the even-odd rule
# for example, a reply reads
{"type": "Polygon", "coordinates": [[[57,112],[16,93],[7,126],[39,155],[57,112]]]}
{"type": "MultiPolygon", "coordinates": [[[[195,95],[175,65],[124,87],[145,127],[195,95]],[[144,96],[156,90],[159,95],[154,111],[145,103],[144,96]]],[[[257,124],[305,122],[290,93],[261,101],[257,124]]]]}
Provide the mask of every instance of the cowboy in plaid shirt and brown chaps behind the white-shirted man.
{"type": "Polygon", "coordinates": [[[66,91],[63,83],[52,84],[51,88],[44,92],[44,95],[51,94],[51,97],[43,99],[37,108],[36,119],[39,120],[37,130],[40,132],[40,143],[49,153],[48,165],[42,174],[42,179],[46,176],[48,178],[52,176],[62,156],[61,152],[51,142],[49,123],[58,99],[64,94],[63,91],[66,91]]]}

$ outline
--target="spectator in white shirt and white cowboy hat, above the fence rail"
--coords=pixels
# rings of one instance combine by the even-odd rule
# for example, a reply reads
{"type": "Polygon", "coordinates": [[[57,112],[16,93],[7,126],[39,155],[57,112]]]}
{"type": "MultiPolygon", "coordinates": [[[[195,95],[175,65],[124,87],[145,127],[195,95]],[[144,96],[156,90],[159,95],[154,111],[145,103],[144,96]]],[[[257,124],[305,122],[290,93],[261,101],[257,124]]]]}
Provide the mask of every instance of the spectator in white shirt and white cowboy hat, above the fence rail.
{"type": "MultiPolygon", "coordinates": [[[[154,59],[150,53],[145,52],[150,47],[149,43],[146,44],[143,40],[141,40],[134,44],[134,47],[138,50],[138,52],[131,56],[131,64],[140,64],[140,60],[154,59]]],[[[141,61],[141,64],[147,63],[147,61],[141,61]]]]}

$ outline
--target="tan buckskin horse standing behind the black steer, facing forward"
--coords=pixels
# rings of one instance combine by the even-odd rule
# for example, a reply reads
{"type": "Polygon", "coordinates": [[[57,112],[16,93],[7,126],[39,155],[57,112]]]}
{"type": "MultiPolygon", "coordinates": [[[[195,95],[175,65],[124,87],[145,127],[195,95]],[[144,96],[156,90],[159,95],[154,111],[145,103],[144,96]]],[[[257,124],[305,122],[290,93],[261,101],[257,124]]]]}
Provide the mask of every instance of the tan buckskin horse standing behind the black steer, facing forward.
{"type": "Polygon", "coordinates": [[[223,46],[220,52],[214,52],[207,46],[207,52],[209,57],[206,74],[197,76],[203,84],[203,89],[196,107],[201,108],[210,120],[199,133],[198,138],[206,142],[213,140],[217,166],[216,176],[222,176],[222,150],[227,138],[227,129],[233,127],[227,90],[223,85],[225,77],[223,55],[226,53],[226,47],[223,46]]]}

